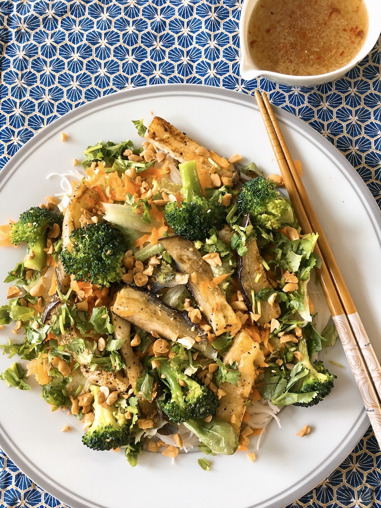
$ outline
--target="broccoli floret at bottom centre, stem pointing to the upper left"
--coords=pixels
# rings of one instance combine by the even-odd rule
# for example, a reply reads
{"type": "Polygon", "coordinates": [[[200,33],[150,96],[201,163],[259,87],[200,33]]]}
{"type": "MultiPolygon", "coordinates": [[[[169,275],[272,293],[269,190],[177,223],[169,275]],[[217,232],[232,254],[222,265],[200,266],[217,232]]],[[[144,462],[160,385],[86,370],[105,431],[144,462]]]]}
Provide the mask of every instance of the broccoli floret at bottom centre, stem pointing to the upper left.
{"type": "Polygon", "coordinates": [[[165,376],[163,380],[171,390],[171,398],[162,404],[162,409],[172,422],[215,416],[218,397],[207,386],[199,385],[192,377],[173,369],[167,361],[161,362],[157,373],[161,379],[165,376]]]}

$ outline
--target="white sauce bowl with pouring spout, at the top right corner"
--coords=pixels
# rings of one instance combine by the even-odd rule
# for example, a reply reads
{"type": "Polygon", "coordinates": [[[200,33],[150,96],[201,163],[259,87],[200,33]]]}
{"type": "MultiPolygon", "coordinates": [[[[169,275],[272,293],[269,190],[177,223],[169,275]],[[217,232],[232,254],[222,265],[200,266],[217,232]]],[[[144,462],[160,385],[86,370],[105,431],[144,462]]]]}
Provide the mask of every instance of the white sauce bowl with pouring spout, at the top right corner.
{"type": "Polygon", "coordinates": [[[277,72],[264,71],[259,69],[253,62],[248,47],[248,25],[251,13],[260,0],[245,0],[243,4],[241,20],[239,25],[239,40],[241,46],[240,74],[243,79],[251,80],[258,76],[263,76],[270,81],[291,86],[311,86],[327,83],[341,78],[348,71],[353,69],[359,61],[361,61],[376,44],[381,32],[381,0],[363,0],[365,2],[369,15],[369,28],[366,39],[360,51],[346,66],[336,71],[326,74],[318,74],[315,76],[292,76],[288,74],[280,74],[277,72]]]}

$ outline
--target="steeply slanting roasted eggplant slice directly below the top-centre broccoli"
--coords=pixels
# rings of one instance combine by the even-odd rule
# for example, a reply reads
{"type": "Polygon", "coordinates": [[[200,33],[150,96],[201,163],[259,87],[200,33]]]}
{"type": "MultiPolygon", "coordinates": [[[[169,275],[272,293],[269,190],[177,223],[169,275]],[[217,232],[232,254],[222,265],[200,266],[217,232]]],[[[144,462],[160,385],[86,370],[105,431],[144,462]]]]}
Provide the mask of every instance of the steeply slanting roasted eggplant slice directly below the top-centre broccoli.
{"type": "Polygon", "coordinates": [[[195,273],[189,277],[187,288],[214,334],[218,336],[229,332],[234,336],[241,328],[241,323],[218,285],[213,283],[213,272],[194,244],[182,236],[170,236],[161,242],[179,270],[189,275],[195,273]]]}

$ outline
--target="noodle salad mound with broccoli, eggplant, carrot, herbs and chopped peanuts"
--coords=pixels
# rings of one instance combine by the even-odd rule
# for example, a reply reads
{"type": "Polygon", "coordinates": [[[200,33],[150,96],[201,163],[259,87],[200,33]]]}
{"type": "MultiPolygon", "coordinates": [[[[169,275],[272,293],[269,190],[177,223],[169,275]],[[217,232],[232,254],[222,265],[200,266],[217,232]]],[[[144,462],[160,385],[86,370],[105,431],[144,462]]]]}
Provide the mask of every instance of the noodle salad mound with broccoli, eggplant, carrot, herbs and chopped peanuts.
{"type": "Polygon", "coordinates": [[[317,353],[336,334],[316,330],[308,293],[317,235],[255,164],[159,117],[134,124],[141,147],[89,146],[61,201],[1,227],[0,245],[26,254],[0,307],[0,326],[23,335],[0,347],[21,363],[0,378],[30,390],[34,375],[85,446],[133,466],[144,449],[247,451],[261,411],[333,388],[317,353]]]}

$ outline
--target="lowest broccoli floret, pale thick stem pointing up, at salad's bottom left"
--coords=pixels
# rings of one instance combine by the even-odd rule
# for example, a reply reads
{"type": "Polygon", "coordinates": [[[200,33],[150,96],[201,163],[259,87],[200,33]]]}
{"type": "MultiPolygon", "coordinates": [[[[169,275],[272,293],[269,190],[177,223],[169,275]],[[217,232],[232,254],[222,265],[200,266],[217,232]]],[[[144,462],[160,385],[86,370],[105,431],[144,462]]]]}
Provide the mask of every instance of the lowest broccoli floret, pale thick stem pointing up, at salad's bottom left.
{"type": "Polygon", "coordinates": [[[135,435],[125,418],[119,421],[114,417],[115,406],[103,407],[98,402],[100,387],[92,385],[90,391],[94,396],[94,421],[82,436],[83,444],[92,450],[111,450],[135,444],[135,435]]]}

